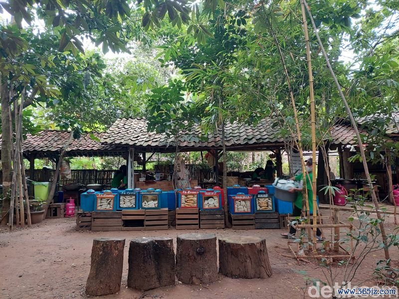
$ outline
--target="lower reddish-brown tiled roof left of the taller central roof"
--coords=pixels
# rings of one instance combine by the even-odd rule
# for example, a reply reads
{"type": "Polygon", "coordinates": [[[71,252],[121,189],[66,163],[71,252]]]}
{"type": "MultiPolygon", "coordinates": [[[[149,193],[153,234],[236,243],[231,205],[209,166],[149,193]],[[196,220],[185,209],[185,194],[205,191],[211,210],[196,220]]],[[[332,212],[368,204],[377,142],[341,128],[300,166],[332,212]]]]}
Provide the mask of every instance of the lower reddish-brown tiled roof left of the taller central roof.
{"type": "MultiPolygon", "coordinates": [[[[104,133],[93,134],[98,139],[104,135],[104,133]]],[[[35,135],[28,134],[22,142],[22,150],[24,154],[35,154],[37,157],[58,155],[68,138],[68,131],[46,130],[35,135]]],[[[102,144],[92,139],[90,133],[84,133],[79,139],[72,140],[67,149],[67,156],[107,156],[125,151],[126,149],[115,145],[102,144]]]]}

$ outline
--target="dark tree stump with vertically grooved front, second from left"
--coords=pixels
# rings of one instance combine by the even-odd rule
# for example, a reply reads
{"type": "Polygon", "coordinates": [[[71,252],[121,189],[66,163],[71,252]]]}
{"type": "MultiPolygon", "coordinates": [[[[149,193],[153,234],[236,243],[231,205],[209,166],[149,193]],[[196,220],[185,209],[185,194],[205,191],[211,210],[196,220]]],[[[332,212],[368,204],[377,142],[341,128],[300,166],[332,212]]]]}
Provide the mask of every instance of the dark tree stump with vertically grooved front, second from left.
{"type": "Polygon", "coordinates": [[[130,241],[128,287],[140,291],[176,282],[172,238],[138,238],[130,241]]]}

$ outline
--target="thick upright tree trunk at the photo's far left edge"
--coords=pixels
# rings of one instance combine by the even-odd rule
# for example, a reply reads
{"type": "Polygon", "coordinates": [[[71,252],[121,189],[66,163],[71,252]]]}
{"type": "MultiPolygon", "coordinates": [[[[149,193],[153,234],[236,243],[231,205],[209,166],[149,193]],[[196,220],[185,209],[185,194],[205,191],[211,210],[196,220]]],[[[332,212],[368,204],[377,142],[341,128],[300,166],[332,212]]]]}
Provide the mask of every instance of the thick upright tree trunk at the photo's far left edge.
{"type": "Polygon", "coordinates": [[[12,168],[11,168],[11,150],[12,150],[12,139],[10,138],[11,130],[9,123],[9,90],[8,90],[8,81],[7,78],[0,75],[0,97],[1,97],[1,167],[2,167],[2,175],[3,175],[3,207],[2,207],[2,215],[3,219],[0,224],[7,223],[7,217],[3,217],[4,214],[8,213],[8,209],[10,208],[10,197],[9,191],[11,189],[11,176],[12,176],[12,168]]]}

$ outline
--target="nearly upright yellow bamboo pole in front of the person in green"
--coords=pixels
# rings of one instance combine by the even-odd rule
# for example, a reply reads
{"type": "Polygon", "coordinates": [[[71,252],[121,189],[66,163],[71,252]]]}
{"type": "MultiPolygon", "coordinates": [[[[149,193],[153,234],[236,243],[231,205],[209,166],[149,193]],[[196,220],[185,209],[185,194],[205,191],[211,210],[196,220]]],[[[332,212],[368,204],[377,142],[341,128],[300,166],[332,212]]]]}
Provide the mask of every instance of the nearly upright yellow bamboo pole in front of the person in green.
{"type": "Polygon", "coordinates": [[[310,55],[310,41],[308,32],[308,23],[305,14],[305,4],[301,0],[301,11],[302,11],[302,24],[303,31],[305,33],[305,43],[306,43],[306,56],[308,62],[308,73],[309,73],[309,96],[310,96],[310,122],[311,122],[311,135],[312,135],[312,193],[313,193],[313,243],[316,244],[316,231],[317,231],[317,201],[316,201],[316,111],[315,111],[315,98],[313,91],[313,73],[312,73],[312,57],[310,55]]]}

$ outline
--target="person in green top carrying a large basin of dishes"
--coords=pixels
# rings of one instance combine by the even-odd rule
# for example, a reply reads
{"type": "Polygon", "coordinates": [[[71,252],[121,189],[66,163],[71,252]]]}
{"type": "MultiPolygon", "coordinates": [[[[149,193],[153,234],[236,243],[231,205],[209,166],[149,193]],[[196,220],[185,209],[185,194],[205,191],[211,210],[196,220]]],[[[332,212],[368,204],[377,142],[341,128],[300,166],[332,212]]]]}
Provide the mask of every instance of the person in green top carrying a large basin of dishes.
{"type": "MultiPolygon", "coordinates": [[[[296,200],[294,201],[294,209],[293,209],[293,213],[292,213],[293,217],[300,217],[302,215],[302,202],[303,202],[304,187],[306,188],[307,193],[308,193],[309,210],[313,211],[313,190],[312,190],[313,159],[312,158],[310,158],[306,161],[305,167],[306,167],[306,171],[308,172],[308,174],[306,174],[305,178],[303,177],[303,173],[295,175],[290,178],[295,181],[303,182],[302,184],[300,184],[300,186],[298,188],[292,188],[289,190],[290,192],[298,191],[296,200]]],[[[289,239],[299,238],[299,236],[295,236],[295,233],[296,233],[296,229],[293,226],[290,226],[290,231],[288,233],[283,233],[281,235],[283,237],[288,237],[289,239]]],[[[316,239],[318,242],[323,242],[322,233],[319,228],[317,228],[317,231],[316,231],[316,239]]]]}

